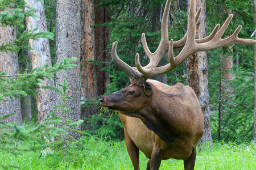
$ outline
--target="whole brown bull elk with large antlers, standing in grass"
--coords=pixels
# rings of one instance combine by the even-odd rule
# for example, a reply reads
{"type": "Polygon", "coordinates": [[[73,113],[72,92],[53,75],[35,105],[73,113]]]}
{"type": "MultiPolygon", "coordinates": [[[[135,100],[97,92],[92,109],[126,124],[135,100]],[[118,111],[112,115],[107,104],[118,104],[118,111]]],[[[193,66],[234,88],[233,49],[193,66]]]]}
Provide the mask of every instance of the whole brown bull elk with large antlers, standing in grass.
{"type": "Polygon", "coordinates": [[[204,133],[203,114],[192,88],[180,83],[168,86],[149,78],[174,70],[195,52],[232,44],[256,44],[255,40],[237,37],[241,25],[232,36],[221,39],[232,15],[221,28],[217,24],[208,37],[195,39],[196,22],[201,12],[201,7],[196,12],[195,3],[191,0],[185,36],[179,41],[169,41],[167,23],[171,0],[167,1],[162,19],[162,37],[154,53],[148,49],[142,33],[143,48],[150,59],[144,67],[139,62],[139,54],[135,56],[136,67],[123,62],[117,56],[117,42],[113,43],[113,62],[131,77],[132,83],[123,90],[103,96],[100,104],[119,113],[134,169],[139,169],[139,150],[149,158],[147,169],[159,169],[161,161],[170,158],[184,160],[184,169],[194,169],[196,145],[204,133]],[[181,47],[181,52],[174,57],[173,49],[181,47]],[[156,67],[167,50],[170,63],[156,67]]]}

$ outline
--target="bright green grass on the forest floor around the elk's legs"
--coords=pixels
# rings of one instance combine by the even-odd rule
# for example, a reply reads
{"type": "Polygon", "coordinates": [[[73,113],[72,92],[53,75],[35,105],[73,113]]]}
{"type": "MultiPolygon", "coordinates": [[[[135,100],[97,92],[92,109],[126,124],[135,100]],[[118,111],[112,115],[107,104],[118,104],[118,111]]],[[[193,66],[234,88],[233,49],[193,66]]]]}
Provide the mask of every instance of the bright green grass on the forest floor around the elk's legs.
{"type": "MultiPolygon", "coordinates": [[[[79,143],[69,147],[67,153],[68,156],[61,156],[61,151],[55,150],[53,154],[40,156],[40,151],[30,151],[15,156],[0,152],[0,165],[47,170],[133,169],[125,142],[109,141],[106,138],[82,138],[79,143]]],[[[252,144],[216,142],[212,148],[204,146],[201,151],[197,151],[195,169],[256,169],[255,154],[256,148],[252,144]]],[[[141,152],[141,169],[146,169],[147,160],[141,152]]],[[[163,160],[160,169],[183,169],[183,160],[163,160]]]]}

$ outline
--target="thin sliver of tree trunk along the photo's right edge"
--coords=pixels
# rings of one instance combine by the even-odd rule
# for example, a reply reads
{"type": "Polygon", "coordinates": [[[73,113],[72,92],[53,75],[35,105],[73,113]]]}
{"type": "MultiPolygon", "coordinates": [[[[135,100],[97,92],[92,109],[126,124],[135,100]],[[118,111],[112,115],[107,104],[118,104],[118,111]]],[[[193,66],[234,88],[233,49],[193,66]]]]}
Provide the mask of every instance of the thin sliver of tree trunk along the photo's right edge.
{"type": "MultiPolygon", "coordinates": [[[[256,29],[256,0],[254,3],[254,28],[256,29]]],[[[256,40],[256,36],[255,40],[256,40]]],[[[254,122],[253,122],[253,143],[256,145],[256,45],[254,45],[254,122]]]]}

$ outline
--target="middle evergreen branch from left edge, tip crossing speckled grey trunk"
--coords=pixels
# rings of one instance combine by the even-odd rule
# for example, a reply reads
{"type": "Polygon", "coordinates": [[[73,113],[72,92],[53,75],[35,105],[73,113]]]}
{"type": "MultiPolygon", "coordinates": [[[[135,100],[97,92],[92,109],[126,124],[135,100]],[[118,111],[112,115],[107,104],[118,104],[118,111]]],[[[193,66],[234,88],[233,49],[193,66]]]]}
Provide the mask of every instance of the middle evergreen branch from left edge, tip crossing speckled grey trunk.
{"type": "Polygon", "coordinates": [[[61,70],[68,70],[75,64],[70,62],[77,60],[77,58],[65,58],[60,63],[56,63],[54,66],[49,67],[49,64],[42,67],[35,68],[31,71],[31,73],[24,74],[11,74],[7,75],[7,73],[0,73],[0,101],[5,100],[5,97],[20,97],[33,95],[36,96],[37,92],[35,89],[38,88],[48,88],[51,90],[56,90],[63,95],[63,92],[56,87],[52,86],[42,86],[40,87],[40,80],[44,80],[45,78],[53,78],[54,73],[61,72],[61,70]],[[15,76],[15,79],[12,78],[15,76]]]}

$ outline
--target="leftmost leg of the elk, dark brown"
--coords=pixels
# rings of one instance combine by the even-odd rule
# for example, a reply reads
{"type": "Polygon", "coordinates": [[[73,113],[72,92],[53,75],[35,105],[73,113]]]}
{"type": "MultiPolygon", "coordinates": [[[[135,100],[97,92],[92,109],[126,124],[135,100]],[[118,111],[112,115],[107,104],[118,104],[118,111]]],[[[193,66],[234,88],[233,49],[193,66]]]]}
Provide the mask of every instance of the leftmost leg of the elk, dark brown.
{"type": "Polygon", "coordinates": [[[129,137],[125,129],[125,143],[128,154],[131,158],[131,162],[133,163],[134,170],[139,170],[139,148],[135,145],[133,140],[129,137]]]}

